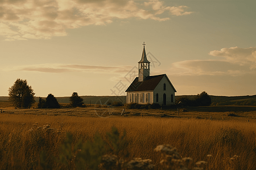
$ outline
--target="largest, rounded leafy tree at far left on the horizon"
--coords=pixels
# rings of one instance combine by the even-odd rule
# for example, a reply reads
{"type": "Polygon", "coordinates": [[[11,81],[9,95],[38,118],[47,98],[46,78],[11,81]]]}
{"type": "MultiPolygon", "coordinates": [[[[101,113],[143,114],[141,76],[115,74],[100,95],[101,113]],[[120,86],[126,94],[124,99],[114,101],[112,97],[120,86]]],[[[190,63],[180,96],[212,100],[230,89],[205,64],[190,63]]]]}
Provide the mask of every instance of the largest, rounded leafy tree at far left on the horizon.
{"type": "Polygon", "coordinates": [[[14,85],[9,88],[9,101],[15,108],[31,108],[35,103],[35,93],[27,80],[16,79],[14,85]]]}

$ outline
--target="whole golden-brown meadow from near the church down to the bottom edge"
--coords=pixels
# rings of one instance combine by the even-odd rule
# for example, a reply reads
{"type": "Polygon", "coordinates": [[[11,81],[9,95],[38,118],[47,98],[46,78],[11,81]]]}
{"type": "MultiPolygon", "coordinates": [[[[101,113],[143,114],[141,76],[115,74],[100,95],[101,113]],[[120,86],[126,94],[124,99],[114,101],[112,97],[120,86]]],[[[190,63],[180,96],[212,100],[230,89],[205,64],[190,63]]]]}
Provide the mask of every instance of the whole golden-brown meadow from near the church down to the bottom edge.
{"type": "MultiPolygon", "coordinates": [[[[104,154],[116,155],[112,158],[119,164],[133,160],[155,165],[154,169],[256,167],[256,112],[249,108],[226,108],[226,112],[220,112],[223,107],[180,108],[179,113],[177,109],[130,109],[121,117],[122,109],[12,109],[6,105],[0,114],[0,169],[104,169],[101,160],[94,162],[97,167],[86,166],[105,158],[104,154]],[[111,134],[118,137],[117,147],[111,134]],[[179,158],[167,155],[167,160],[163,152],[154,150],[159,145],[176,147],[179,158]],[[96,157],[90,160],[84,154],[90,162],[78,161],[88,146],[96,154],[89,157],[96,157]],[[98,152],[102,155],[97,157],[98,152]]],[[[150,169],[117,167],[117,163],[106,169],[129,168],[150,169]]]]}

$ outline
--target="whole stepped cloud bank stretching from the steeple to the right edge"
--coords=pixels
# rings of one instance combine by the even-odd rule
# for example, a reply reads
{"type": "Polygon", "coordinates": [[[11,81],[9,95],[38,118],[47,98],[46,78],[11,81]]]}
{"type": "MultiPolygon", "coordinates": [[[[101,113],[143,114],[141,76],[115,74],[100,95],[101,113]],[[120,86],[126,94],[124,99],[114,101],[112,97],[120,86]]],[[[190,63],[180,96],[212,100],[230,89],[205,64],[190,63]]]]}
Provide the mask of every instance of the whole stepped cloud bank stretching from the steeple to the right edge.
{"type": "Polygon", "coordinates": [[[154,70],[155,74],[170,75],[256,75],[256,47],[222,48],[210,51],[209,54],[218,59],[187,60],[172,63],[168,70],[154,70]]]}

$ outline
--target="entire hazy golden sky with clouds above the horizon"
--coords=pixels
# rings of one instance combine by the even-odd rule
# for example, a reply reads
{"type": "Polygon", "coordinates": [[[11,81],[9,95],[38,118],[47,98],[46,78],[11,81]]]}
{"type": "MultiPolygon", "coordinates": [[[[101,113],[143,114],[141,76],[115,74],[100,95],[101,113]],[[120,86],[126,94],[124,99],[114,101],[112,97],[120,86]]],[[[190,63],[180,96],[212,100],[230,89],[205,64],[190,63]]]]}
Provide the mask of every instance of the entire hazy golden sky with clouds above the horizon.
{"type": "Polygon", "coordinates": [[[0,96],[125,95],[143,42],[176,95],[256,94],[256,1],[0,0],[0,96]]]}

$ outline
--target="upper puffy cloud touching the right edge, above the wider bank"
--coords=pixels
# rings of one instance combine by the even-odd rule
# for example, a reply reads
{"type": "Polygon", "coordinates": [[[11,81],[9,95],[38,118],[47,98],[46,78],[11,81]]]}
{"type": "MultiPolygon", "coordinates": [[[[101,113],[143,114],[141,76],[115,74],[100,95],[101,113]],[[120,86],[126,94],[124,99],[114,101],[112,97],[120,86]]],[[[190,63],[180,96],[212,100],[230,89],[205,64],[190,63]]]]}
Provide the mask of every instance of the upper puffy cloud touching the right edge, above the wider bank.
{"type": "Polygon", "coordinates": [[[222,48],[209,52],[211,56],[224,57],[226,61],[238,65],[249,65],[250,69],[256,68],[256,47],[239,48],[237,46],[222,48]]]}

